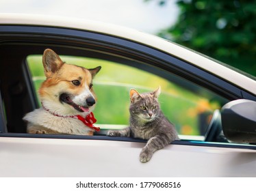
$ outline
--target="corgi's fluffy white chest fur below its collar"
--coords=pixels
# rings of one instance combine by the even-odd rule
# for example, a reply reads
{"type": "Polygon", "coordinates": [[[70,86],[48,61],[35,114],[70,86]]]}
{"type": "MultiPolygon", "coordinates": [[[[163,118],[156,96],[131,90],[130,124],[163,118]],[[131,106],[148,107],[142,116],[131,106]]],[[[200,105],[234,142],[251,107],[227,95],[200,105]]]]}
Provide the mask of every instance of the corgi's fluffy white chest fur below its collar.
{"type": "Polygon", "coordinates": [[[88,135],[90,132],[94,131],[85,126],[84,123],[78,119],[72,117],[58,117],[45,111],[43,108],[38,108],[27,113],[23,119],[29,123],[29,126],[42,126],[61,134],[88,135]]]}

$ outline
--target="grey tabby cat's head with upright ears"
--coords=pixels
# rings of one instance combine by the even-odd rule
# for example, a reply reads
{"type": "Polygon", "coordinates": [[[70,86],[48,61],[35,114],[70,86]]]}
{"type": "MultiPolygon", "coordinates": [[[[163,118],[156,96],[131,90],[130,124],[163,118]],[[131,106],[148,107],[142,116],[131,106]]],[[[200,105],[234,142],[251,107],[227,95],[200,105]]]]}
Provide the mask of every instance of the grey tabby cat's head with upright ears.
{"type": "Polygon", "coordinates": [[[148,93],[138,93],[135,89],[130,91],[130,113],[142,122],[153,121],[159,114],[159,102],[157,100],[161,93],[161,87],[148,93]]]}

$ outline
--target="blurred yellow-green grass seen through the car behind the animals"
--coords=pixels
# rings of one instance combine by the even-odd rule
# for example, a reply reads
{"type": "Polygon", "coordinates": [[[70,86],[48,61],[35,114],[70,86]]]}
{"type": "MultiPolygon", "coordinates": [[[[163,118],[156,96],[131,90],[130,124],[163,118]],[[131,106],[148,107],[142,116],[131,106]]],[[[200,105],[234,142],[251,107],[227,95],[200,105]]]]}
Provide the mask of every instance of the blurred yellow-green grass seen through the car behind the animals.
{"type": "MultiPolygon", "coordinates": [[[[175,123],[179,134],[199,135],[200,113],[202,111],[212,113],[214,108],[218,107],[218,104],[212,106],[205,98],[164,78],[127,65],[84,57],[60,57],[66,63],[85,68],[101,65],[101,71],[94,78],[94,91],[98,98],[94,115],[99,124],[129,124],[129,90],[131,88],[142,93],[153,91],[160,85],[162,93],[159,95],[159,102],[162,111],[172,123],[175,123]]],[[[40,84],[45,79],[42,55],[27,57],[27,63],[38,92],[40,84]]]]}

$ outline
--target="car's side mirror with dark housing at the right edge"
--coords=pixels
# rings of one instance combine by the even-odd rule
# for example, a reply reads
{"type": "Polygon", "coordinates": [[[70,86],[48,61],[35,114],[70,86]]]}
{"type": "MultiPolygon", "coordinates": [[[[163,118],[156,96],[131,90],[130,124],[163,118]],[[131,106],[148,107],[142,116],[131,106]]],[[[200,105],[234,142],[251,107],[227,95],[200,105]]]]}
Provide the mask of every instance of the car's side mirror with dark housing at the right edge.
{"type": "Polygon", "coordinates": [[[256,143],[256,102],[234,100],[221,109],[222,130],[237,143],[256,143]]]}

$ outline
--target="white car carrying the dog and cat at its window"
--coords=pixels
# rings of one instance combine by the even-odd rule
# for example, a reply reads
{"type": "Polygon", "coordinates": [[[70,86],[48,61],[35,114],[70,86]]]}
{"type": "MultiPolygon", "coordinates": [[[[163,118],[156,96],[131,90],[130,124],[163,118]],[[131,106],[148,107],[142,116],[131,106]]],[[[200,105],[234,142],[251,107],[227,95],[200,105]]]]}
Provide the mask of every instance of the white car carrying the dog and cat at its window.
{"type": "Polygon", "coordinates": [[[256,81],[154,35],[71,18],[0,14],[0,177],[255,177],[256,81]],[[42,53],[101,65],[94,136],[27,134],[40,106],[42,53]],[[105,136],[129,123],[129,89],[161,85],[180,141],[139,154],[146,140],[105,136]],[[250,112],[246,112],[250,111],[250,112]]]}

